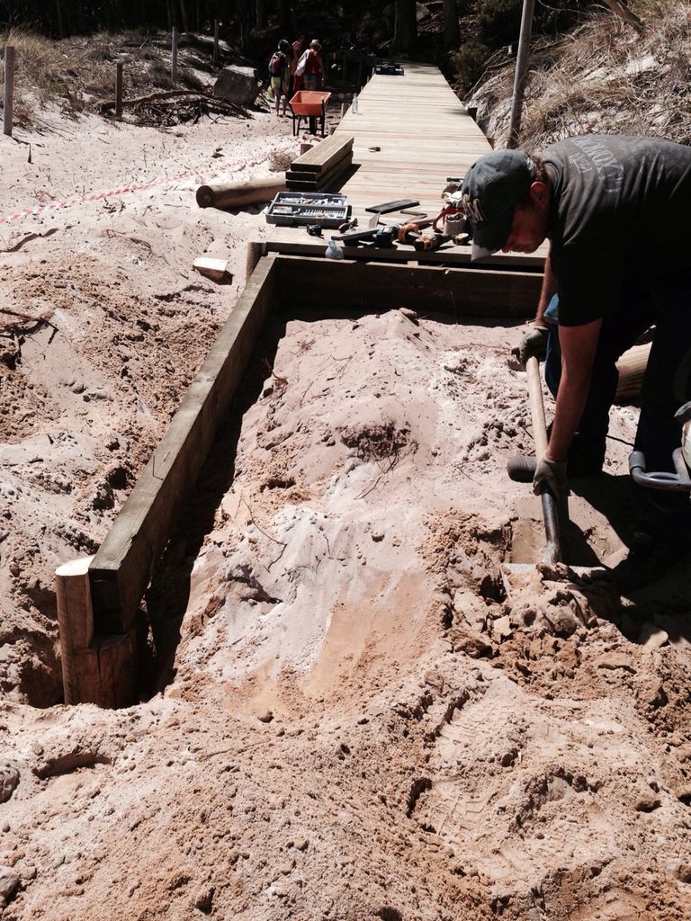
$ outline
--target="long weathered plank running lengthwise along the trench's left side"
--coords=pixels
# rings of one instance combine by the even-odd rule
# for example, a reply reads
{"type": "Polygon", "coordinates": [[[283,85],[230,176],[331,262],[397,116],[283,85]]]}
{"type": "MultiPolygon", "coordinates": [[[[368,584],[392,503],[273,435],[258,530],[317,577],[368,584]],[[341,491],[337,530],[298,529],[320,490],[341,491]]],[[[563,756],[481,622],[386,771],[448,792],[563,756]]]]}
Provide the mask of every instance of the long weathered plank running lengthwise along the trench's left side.
{"type": "Polygon", "coordinates": [[[213,444],[264,320],[274,306],[275,256],[260,260],[146,470],[89,565],[96,633],[126,632],[173,520],[213,444]]]}

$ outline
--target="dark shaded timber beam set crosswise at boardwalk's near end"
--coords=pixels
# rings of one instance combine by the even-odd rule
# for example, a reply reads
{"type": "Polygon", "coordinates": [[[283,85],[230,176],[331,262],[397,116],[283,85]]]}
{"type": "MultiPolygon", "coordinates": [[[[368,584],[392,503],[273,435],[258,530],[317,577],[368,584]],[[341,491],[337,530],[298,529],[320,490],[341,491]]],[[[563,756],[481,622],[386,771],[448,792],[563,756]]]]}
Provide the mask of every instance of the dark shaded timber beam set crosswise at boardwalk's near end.
{"type": "MultiPolygon", "coordinates": [[[[420,256],[420,253],[415,253],[420,256]]],[[[279,255],[278,279],[285,307],[306,304],[357,309],[409,307],[456,317],[531,317],[542,275],[503,270],[390,262],[334,262],[279,255]]]]}

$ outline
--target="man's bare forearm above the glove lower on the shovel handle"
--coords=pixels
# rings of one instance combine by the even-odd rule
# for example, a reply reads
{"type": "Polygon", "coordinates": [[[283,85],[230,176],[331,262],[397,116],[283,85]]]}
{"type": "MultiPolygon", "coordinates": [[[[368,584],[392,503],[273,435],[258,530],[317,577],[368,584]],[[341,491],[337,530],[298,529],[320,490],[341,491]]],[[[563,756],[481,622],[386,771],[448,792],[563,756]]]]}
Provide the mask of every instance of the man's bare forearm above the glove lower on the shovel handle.
{"type": "Polygon", "coordinates": [[[561,462],[567,459],[568,448],[588,398],[592,362],[602,325],[602,320],[594,320],[580,326],[559,326],[561,380],[546,452],[550,461],[561,462]]]}

